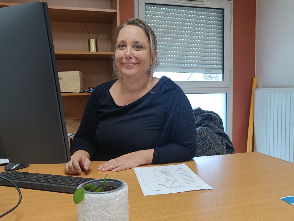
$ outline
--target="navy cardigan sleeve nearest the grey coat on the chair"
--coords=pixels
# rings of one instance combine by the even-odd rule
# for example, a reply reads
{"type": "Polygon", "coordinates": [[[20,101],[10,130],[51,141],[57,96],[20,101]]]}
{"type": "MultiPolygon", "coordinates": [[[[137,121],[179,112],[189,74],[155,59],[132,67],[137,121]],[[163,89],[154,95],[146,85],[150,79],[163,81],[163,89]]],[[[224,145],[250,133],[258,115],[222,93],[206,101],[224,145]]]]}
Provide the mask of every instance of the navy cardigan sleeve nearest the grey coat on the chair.
{"type": "Polygon", "coordinates": [[[155,147],[153,164],[191,160],[197,153],[197,131],[191,104],[182,89],[166,81],[161,92],[167,111],[166,125],[159,146],[155,147]]]}

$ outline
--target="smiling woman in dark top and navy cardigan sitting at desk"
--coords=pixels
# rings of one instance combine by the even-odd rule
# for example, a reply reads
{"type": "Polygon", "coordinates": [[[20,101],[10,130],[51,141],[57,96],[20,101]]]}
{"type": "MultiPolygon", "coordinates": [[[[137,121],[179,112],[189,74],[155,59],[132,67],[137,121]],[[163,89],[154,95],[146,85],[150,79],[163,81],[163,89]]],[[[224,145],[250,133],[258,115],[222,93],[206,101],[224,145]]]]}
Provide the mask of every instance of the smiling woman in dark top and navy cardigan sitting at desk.
{"type": "Polygon", "coordinates": [[[172,80],[153,77],[154,32],[131,18],[116,29],[114,44],[118,79],[96,86],[90,95],[65,172],[87,171],[91,160],[108,160],[98,170],[116,172],[192,159],[197,152],[192,107],[172,80]]]}

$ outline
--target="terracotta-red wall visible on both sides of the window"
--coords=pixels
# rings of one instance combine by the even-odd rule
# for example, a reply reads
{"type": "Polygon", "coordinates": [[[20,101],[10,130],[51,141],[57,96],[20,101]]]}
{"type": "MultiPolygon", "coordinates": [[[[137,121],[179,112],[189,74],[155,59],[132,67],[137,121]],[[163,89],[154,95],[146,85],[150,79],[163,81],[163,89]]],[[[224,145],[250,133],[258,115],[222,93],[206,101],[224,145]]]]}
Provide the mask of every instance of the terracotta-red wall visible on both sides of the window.
{"type": "MultiPolygon", "coordinates": [[[[233,144],[246,152],[252,78],[255,77],[255,0],[234,0],[233,144]],[[246,33],[246,34],[245,34],[246,33]]],[[[120,1],[120,22],[134,17],[134,0],[120,1]]]]}

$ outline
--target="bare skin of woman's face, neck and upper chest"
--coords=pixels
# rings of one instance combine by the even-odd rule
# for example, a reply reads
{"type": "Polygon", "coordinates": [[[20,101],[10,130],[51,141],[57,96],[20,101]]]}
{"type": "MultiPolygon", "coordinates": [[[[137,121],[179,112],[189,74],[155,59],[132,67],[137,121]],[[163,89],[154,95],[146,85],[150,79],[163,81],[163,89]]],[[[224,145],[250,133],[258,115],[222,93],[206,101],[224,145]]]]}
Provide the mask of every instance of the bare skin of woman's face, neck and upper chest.
{"type": "MultiPolygon", "coordinates": [[[[123,106],[146,94],[159,78],[152,77],[149,40],[140,27],[123,27],[116,42],[114,70],[117,77],[121,78],[110,88],[110,94],[116,104],[123,106]]],[[[156,53],[153,56],[156,56],[156,53]]]]}

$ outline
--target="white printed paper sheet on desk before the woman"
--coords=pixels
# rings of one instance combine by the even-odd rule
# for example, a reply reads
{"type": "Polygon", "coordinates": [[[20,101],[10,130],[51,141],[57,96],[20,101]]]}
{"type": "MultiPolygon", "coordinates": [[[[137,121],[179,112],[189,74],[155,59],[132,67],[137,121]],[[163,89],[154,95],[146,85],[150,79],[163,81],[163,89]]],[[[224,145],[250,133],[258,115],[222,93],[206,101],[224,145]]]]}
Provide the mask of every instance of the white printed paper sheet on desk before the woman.
{"type": "Polygon", "coordinates": [[[144,196],[213,189],[186,164],[134,167],[144,196]]]}

